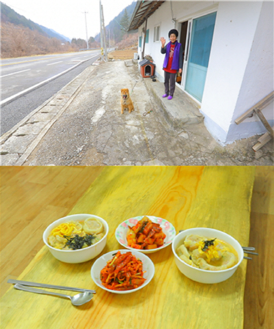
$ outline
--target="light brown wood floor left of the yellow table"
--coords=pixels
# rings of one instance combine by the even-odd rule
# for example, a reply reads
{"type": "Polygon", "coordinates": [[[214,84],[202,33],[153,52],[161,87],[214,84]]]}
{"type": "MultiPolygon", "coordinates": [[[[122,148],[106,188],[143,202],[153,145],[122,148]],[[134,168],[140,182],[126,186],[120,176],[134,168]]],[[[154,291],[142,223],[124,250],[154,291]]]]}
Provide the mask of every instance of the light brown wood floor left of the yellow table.
{"type": "Polygon", "coordinates": [[[43,247],[45,227],[71,211],[103,168],[0,167],[1,296],[43,247]]]}

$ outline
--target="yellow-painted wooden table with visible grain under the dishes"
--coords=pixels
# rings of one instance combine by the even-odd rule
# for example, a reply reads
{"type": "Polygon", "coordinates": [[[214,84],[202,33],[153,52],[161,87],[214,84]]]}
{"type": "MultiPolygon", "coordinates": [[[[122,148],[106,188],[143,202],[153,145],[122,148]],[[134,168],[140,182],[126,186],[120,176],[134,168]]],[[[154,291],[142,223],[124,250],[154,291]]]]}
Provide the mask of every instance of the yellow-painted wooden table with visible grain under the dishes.
{"type": "MultiPolygon", "coordinates": [[[[102,254],[121,249],[115,228],[138,215],[165,218],[177,232],[199,226],[220,229],[246,246],[254,173],[253,167],[105,167],[70,214],[96,214],[108,221],[110,232],[102,254]]],[[[89,303],[74,307],[68,300],[11,287],[1,300],[1,328],[243,327],[247,260],[227,281],[207,285],[179,272],[171,246],[149,257],[155,265],[153,280],[144,289],[119,295],[92,281],[90,268],[96,258],[66,264],[43,247],[18,279],[97,293],[89,303]]]]}

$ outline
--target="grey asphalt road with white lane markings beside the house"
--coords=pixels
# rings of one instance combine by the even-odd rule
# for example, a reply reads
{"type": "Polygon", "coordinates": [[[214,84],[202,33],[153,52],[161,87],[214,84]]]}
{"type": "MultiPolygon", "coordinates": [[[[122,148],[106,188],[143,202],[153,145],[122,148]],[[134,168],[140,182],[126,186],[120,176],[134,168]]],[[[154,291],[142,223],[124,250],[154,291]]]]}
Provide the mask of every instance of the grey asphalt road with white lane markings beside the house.
{"type": "Polygon", "coordinates": [[[98,51],[87,51],[3,60],[2,102],[9,97],[17,96],[14,100],[2,105],[1,135],[73,80],[98,57],[98,51]],[[62,72],[65,73],[62,74],[62,72]],[[60,76],[53,80],[20,95],[20,92],[31,89],[59,74],[60,76]]]}

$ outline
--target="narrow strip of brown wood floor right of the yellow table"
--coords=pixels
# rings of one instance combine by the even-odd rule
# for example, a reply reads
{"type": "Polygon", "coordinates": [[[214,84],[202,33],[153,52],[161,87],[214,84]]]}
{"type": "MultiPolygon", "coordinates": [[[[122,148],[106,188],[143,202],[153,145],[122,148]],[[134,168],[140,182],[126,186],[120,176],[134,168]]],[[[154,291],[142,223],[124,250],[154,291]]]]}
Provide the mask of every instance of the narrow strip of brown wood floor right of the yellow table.
{"type": "Polygon", "coordinates": [[[274,167],[256,167],[250,216],[250,245],[258,256],[248,261],[245,329],[274,328],[274,167]]]}

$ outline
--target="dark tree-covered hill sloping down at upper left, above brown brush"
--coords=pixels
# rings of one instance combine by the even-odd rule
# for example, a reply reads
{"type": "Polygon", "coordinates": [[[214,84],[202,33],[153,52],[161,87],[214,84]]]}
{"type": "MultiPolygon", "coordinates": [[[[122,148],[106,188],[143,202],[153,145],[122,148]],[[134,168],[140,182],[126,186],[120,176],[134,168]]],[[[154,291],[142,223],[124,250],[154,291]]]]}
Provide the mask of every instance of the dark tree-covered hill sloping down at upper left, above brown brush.
{"type": "Polygon", "coordinates": [[[25,18],[24,16],[16,13],[13,9],[11,9],[9,6],[1,4],[1,22],[2,23],[11,23],[14,25],[20,25],[23,27],[27,27],[32,31],[38,31],[41,35],[49,38],[56,38],[61,40],[62,42],[70,41],[70,39],[59,35],[57,32],[44,27],[42,25],[39,25],[30,19],[25,18]]]}

